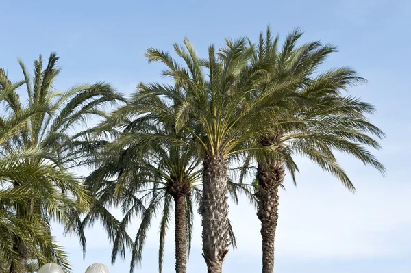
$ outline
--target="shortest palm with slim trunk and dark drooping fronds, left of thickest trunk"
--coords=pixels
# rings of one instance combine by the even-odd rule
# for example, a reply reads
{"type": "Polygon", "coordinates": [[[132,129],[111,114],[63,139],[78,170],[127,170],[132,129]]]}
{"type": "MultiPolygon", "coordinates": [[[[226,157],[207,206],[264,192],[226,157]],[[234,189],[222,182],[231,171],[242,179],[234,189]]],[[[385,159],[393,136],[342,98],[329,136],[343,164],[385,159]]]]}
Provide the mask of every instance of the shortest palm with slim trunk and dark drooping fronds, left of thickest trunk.
{"type": "MultiPolygon", "coordinates": [[[[124,111],[127,109],[119,110],[124,111]]],[[[191,242],[194,216],[192,192],[198,192],[196,186],[201,183],[198,159],[188,143],[184,144],[187,133],[176,133],[169,122],[152,115],[125,119],[116,127],[111,133],[117,129],[121,133],[116,131],[116,139],[105,146],[99,168],[88,178],[90,189],[103,204],[121,205],[125,214],[121,224],[127,226],[133,216],[142,216],[132,252],[131,272],[141,261],[147,230],[159,209],[162,211],[159,272],[162,272],[164,239],[174,205],[175,270],[186,272],[187,245],[191,242]],[[157,141],[160,139],[162,141],[157,141]],[[110,180],[110,177],[116,179],[110,180]],[[143,203],[147,203],[147,209],[142,207],[143,203]]]]}

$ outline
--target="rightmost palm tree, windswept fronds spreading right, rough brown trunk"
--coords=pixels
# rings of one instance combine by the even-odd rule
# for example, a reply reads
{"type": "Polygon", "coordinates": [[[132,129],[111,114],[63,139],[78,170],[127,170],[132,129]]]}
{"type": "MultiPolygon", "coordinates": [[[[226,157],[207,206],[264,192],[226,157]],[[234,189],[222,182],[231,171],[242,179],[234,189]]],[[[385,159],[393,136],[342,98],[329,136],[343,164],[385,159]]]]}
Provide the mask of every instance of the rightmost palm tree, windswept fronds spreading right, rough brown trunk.
{"type": "Polygon", "coordinates": [[[278,36],[273,38],[268,28],[266,37],[260,34],[253,62],[266,68],[258,88],[250,100],[271,93],[272,86],[287,81],[299,103],[292,103],[286,111],[266,117],[258,138],[251,140],[254,149],[249,158],[255,158],[257,167],[257,216],[261,221],[262,272],[273,272],[274,238],[278,219],[279,187],[283,186],[286,169],[295,183],[298,171],[293,155],[304,155],[323,170],[337,177],[349,190],[353,183],[338,165],[334,151],[348,153],[384,173],[384,166],[366,150],[366,146],[380,148],[373,138],[384,133],[372,125],[366,114],[375,111],[372,105],[352,96],[343,96],[342,90],[365,80],[351,68],[334,68],[316,73],[325,58],[336,51],[332,45],[310,42],[297,47],[302,32],[291,31],[281,51],[277,49],[278,36]],[[267,148],[267,151],[264,151],[267,148]],[[274,153],[273,153],[274,152],[274,153]]]}

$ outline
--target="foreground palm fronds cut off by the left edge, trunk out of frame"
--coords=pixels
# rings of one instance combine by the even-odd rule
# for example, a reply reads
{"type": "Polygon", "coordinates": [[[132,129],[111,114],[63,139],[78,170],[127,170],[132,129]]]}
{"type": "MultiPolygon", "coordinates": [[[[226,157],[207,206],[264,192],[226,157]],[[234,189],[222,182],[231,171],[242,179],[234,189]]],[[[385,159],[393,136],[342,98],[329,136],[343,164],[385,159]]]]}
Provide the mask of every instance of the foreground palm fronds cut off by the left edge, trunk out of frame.
{"type": "MultiPolygon", "coordinates": [[[[5,77],[3,70],[0,70],[0,102],[23,83],[23,81],[11,83],[5,77]]],[[[16,115],[0,117],[0,146],[7,146],[10,138],[27,126],[27,120],[41,112],[42,109],[22,109],[16,115]]],[[[35,214],[29,218],[18,218],[16,215],[16,208],[30,207],[44,196],[51,197],[53,200],[62,200],[60,194],[56,195],[47,190],[47,185],[50,184],[49,181],[71,179],[53,166],[31,163],[40,158],[49,157],[36,148],[0,153],[0,269],[2,272],[5,272],[6,268],[10,269],[12,265],[13,271],[35,267],[36,263],[33,261],[27,261],[25,266],[22,266],[23,261],[16,253],[14,241],[24,244],[27,255],[29,253],[31,255],[30,259],[40,263],[57,262],[66,270],[70,270],[64,252],[47,233],[49,226],[45,219],[35,214]],[[14,187],[15,183],[18,183],[19,187],[14,187]]],[[[62,209],[60,205],[61,203],[55,202],[49,207],[51,211],[55,211],[62,209]]]]}

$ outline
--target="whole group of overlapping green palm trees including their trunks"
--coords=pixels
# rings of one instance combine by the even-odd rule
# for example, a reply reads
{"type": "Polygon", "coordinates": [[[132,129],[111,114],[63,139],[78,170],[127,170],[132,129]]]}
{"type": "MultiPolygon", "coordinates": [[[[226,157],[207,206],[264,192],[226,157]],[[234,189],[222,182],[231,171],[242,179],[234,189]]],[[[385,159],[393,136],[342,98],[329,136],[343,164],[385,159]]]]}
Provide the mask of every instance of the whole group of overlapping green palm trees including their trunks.
{"type": "Polygon", "coordinates": [[[0,120],[2,263],[10,272],[46,260],[69,269],[51,237],[50,221],[77,233],[85,254],[84,231],[98,220],[113,246],[112,263],[130,252],[132,272],[142,260],[151,222],[159,217],[161,272],[174,213],[175,270],[186,272],[198,211],[208,272],[222,272],[229,247],[236,246],[228,198],[238,200],[242,193],[256,205],[261,222],[262,272],[273,272],[278,192],[286,172],[296,182],[295,155],[308,157],[351,191],[336,153],[385,171],[367,150],[380,148],[376,139],[384,137],[366,118],[374,107],[343,93],[365,80],[347,67],[319,72],[336,48],[319,41],[298,44],[301,35],[291,31],[280,45],[268,28],[256,43],[239,38],[225,40],[219,49],[210,45],[206,58],[184,40],[173,44],[181,63],[150,48],[147,60],[164,64],[162,75],[171,81],[140,83],[128,100],[103,83],[52,92],[55,55],[45,70],[41,60],[35,62],[33,83],[23,64],[24,81],[11,83],[1,73],[0,99],[10,113],[0,120]],[[15,92],[24,83],[27,106],[15,92]],[[110,114],[100,109],[116,101],[124,105],[110,114]],[[90,115],[103,120],[71,133],[90,115]],[[82,165],[92,168],[88,177],[69,172],[82,165]],[[239,172],[238,181],[230,170],[239,172]],[[250,174],[255,179],[245,183],[250,174]],[[123,217],[114,217],[112,208],[121,209],[123,217]],[[141,223],[132,238],[127,227],[136,217],[141,223]],[[25,229],[29,232],[21,236],[25,229]]]}

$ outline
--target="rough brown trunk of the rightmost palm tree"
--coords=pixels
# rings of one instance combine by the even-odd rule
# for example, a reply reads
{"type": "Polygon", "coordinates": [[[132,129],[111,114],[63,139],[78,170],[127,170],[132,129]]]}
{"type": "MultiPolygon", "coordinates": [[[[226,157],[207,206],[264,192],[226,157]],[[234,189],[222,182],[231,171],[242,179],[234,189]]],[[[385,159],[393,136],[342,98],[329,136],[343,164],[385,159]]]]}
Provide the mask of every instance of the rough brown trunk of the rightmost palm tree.
{"type": "Polygon", "coordinates": [[[274,239],[278,220],[278,189],[284,181],[285,171],[281,163],[273,163],[267,171],[258,164],[257,216],[261,221],[262,273],[274,272],[274,239]]]}

